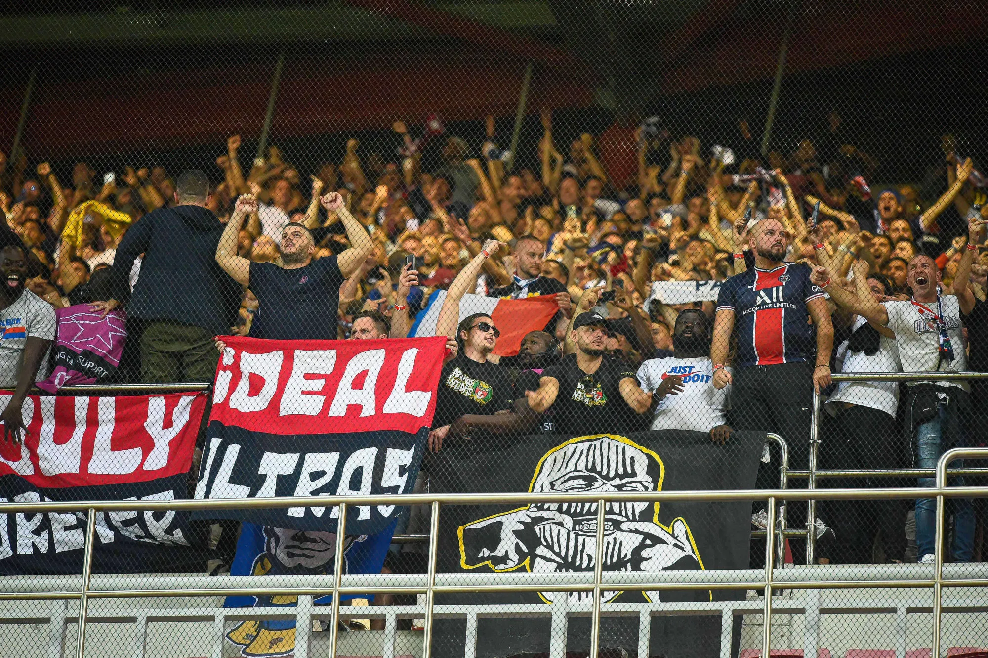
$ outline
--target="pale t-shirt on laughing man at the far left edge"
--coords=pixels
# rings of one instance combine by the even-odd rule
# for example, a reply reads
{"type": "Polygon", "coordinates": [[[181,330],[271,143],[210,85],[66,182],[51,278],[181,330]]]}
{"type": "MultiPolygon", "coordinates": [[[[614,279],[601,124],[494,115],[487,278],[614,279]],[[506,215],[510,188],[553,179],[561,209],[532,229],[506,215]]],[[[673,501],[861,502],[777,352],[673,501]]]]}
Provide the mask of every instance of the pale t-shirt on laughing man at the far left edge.
{"type": "MultiPolygon", "coordinates": [[[[54,341],[55,309],[40,296],[25,289],[17,301],[0,310],[0,332],[0,386],[16,386],[28,336],[54,341]]],[[[35,380],[41,381],[47,376],[48,358],[45,355],[35,380]]]]}

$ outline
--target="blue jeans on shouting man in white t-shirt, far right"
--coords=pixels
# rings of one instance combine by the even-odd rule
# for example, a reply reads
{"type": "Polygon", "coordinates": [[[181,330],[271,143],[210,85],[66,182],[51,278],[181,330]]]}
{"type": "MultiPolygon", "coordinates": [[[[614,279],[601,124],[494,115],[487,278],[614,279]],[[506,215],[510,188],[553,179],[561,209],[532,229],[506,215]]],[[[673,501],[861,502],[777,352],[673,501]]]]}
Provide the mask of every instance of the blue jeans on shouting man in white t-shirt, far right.
{"type": "MultiPolygon", "coordinates": [[[[966,445],[959,409],[956,404],[941,400],[938,415],[933,420],[916,427],[916,452],[920,468],[936,468],[937,460],[945,452],[944,435],[954,435],[957,446],[966,445]]],[[[947,445],[947,447],[950,447],[947,445]]],[[[951,463],[962,465],[960,461],[951,463]]],[[[951,484],[963,486],[963,478],[952,478],[951,484]]],[[[934,478],[921,477],[921,487],[933,487],[934,478]]],[[[947,504],[951,499],[947,499],[947,504]]],[[[974,556],[974,508],[969,498],[954,498],[953,501],[953,559],[956,562],[970,562],[974,556]]],[[[923,498],[916,501],[916,552],[920,558],[934,552],[937,541],[937,500],[923,498]]]]}

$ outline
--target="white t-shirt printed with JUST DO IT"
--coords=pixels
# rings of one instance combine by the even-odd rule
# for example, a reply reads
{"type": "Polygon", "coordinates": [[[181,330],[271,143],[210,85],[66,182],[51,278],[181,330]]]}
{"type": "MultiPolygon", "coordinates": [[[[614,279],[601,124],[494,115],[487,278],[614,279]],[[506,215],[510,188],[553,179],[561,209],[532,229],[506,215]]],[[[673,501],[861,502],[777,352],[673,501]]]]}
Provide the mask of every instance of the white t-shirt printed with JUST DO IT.
{"type": "Polygon", "coordinates": [[[709,357],[692,359],[649,359],[638,369],[638,384],[654,391],[669,374],[683,377],[683,391],[666,395],[655,409],[653,430],[709,432],[727,422],[730,384],[713,387],[713,364],[709,357]]]}

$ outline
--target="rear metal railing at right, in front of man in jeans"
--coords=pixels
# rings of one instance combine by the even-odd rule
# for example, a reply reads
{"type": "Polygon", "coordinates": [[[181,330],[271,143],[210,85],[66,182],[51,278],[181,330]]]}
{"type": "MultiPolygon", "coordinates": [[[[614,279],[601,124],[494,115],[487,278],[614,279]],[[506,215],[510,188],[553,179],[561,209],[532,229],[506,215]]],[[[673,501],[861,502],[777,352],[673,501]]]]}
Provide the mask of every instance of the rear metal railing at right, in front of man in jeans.
{"type": "MultiPolygon", "coordinates": [[[[936,370],[920,372],[834,372],[831,375],[837,383],[845,381],[967,381],[988,379],[988,372],[940,372],[936,370]]],[[[934,477],[935,468],[883,468],[881,470],[818,470],[817,448],[820,445],[821,395],[813,391],[813,411],[809,430],[809,463],[807,470],[791,470],[790,477],[807,477],[808,489],[816,489],[818,477],[934,477]]],[[[963,468],[950,471],[951,475],[988,475],[988,468],[963,468]]],[[[921,496],[929,498],[929,496],[921,496]]],[[[806,528],[813,528],[816,521],[816,500],[810,499],[806,505],[806,528]]],[[[813,564],[816,552],[816,533],[806,533],[806,564],[813,564]]]]}

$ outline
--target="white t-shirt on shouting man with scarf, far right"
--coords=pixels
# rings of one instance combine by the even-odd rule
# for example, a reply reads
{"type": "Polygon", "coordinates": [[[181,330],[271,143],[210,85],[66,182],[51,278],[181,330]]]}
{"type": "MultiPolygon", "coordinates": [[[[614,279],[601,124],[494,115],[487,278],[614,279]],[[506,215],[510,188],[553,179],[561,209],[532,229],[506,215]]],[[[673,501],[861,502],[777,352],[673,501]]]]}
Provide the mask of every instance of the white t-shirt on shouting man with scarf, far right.
{"type": "MultiPolygon", "coordinates": [[[[940,360],[939,369],[937,361],[940,356],[940,332],[936,319],[937,302],[924,303],[922,306],[912,299],[882,302],[888,312],[887,326],[895,332],[895,340],[899,344],[899,361],[904,372],[967,370],[967,359],[964,356],[964,344],[960,335],[960,304],[953,294],[941,295],[940,299],[944,310],[944,321],[947,323],[947,336],[953,348],[953,361],[940,360]]],[[[938,381],[937,384],[970,389],[964,381],[938,381]]]]}

